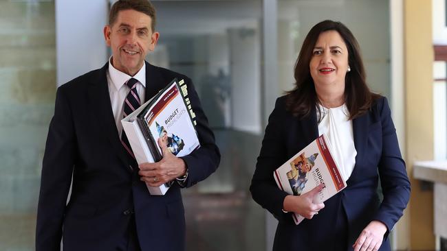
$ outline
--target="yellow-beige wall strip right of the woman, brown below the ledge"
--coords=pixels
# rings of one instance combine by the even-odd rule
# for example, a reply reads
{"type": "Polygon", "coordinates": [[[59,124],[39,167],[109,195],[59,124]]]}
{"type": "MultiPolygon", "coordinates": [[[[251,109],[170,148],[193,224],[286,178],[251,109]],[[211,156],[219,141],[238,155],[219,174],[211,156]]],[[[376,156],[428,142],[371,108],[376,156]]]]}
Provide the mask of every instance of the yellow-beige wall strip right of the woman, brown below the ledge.
{"type": "Polygon", "coordinates": [[[433,158],[433,42],[431,0],[404,1],[406,163],[411,176],[411,250],[435,250],[433,191],[412,177],[415,160],[433,158]]]}

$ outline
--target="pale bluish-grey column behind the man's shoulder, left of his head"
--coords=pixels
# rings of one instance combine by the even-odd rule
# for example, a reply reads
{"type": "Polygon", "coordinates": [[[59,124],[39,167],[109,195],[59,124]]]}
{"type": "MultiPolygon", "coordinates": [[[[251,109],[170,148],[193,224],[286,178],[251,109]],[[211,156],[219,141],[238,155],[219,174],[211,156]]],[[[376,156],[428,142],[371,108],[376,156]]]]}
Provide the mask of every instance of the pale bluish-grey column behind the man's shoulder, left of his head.
{"type": "Polygon", "coordinates": [[[102,29],[108,1],[56,0],[56,83],[98,69],[107,61],[102,29]]]}

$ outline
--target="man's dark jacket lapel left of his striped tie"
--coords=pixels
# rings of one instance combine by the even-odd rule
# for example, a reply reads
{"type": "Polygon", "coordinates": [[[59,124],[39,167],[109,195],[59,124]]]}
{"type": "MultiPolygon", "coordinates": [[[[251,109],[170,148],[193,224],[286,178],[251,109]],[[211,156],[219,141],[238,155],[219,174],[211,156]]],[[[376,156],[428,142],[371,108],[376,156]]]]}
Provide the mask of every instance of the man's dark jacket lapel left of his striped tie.
{"type": "Polygon", "coordinates": [[[98,73],[98,75],[91,79],[89,83],[89,99],[91,100],[91,108],[94,112],[94,117],[98,117],[101,133],[110,141],[113,150],[115,150],[118,157],[122,160],[127,170],[129,157],[127,152],[122,147],[121,140],[116,128],[115,118],[113,117],[113,110],[111,108],[111,101],[109,95],[109,87],[107,85],[107,68],[109,63],[105,64],[98,73]]]}

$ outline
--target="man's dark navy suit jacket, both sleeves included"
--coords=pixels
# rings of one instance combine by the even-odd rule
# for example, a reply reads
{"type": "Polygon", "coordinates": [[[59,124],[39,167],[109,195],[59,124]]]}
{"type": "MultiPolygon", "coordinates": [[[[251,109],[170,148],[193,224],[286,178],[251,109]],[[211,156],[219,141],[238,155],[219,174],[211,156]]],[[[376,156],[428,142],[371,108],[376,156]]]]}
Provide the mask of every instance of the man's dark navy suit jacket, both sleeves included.
{"type": "MultiPolygon", "coordinates": [[[[107,86],[108,63],[58,88],[43,158],[36,250],[116,250],[134,214],[142,250],[184,250],[185,219],[177,183],[150,195],[120,143],[107,86]],[[131,171],[131,167],[135,171],[131,171]],[[66,204],[70,183],[72,193],[66,204]]],[[[193,83],[146,62],[149,100],[174,77],[184,79],[201,147],[182,157],[186,187],[217,169],[220,154],[193,83]]]]}

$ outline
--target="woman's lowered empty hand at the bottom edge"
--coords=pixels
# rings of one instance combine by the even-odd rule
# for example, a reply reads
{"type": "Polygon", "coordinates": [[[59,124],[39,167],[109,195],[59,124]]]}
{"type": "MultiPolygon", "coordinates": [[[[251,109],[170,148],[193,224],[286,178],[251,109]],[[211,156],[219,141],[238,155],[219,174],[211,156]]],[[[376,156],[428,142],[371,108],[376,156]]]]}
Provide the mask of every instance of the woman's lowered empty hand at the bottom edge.
{"type": "Polygon", "coordinates": [[[372,221],[360,233],[356,243],[352,246],[354,251],[377,251],[382,245],[383,236],[386,232],[386,226],[382,222],[372,221]]]}

